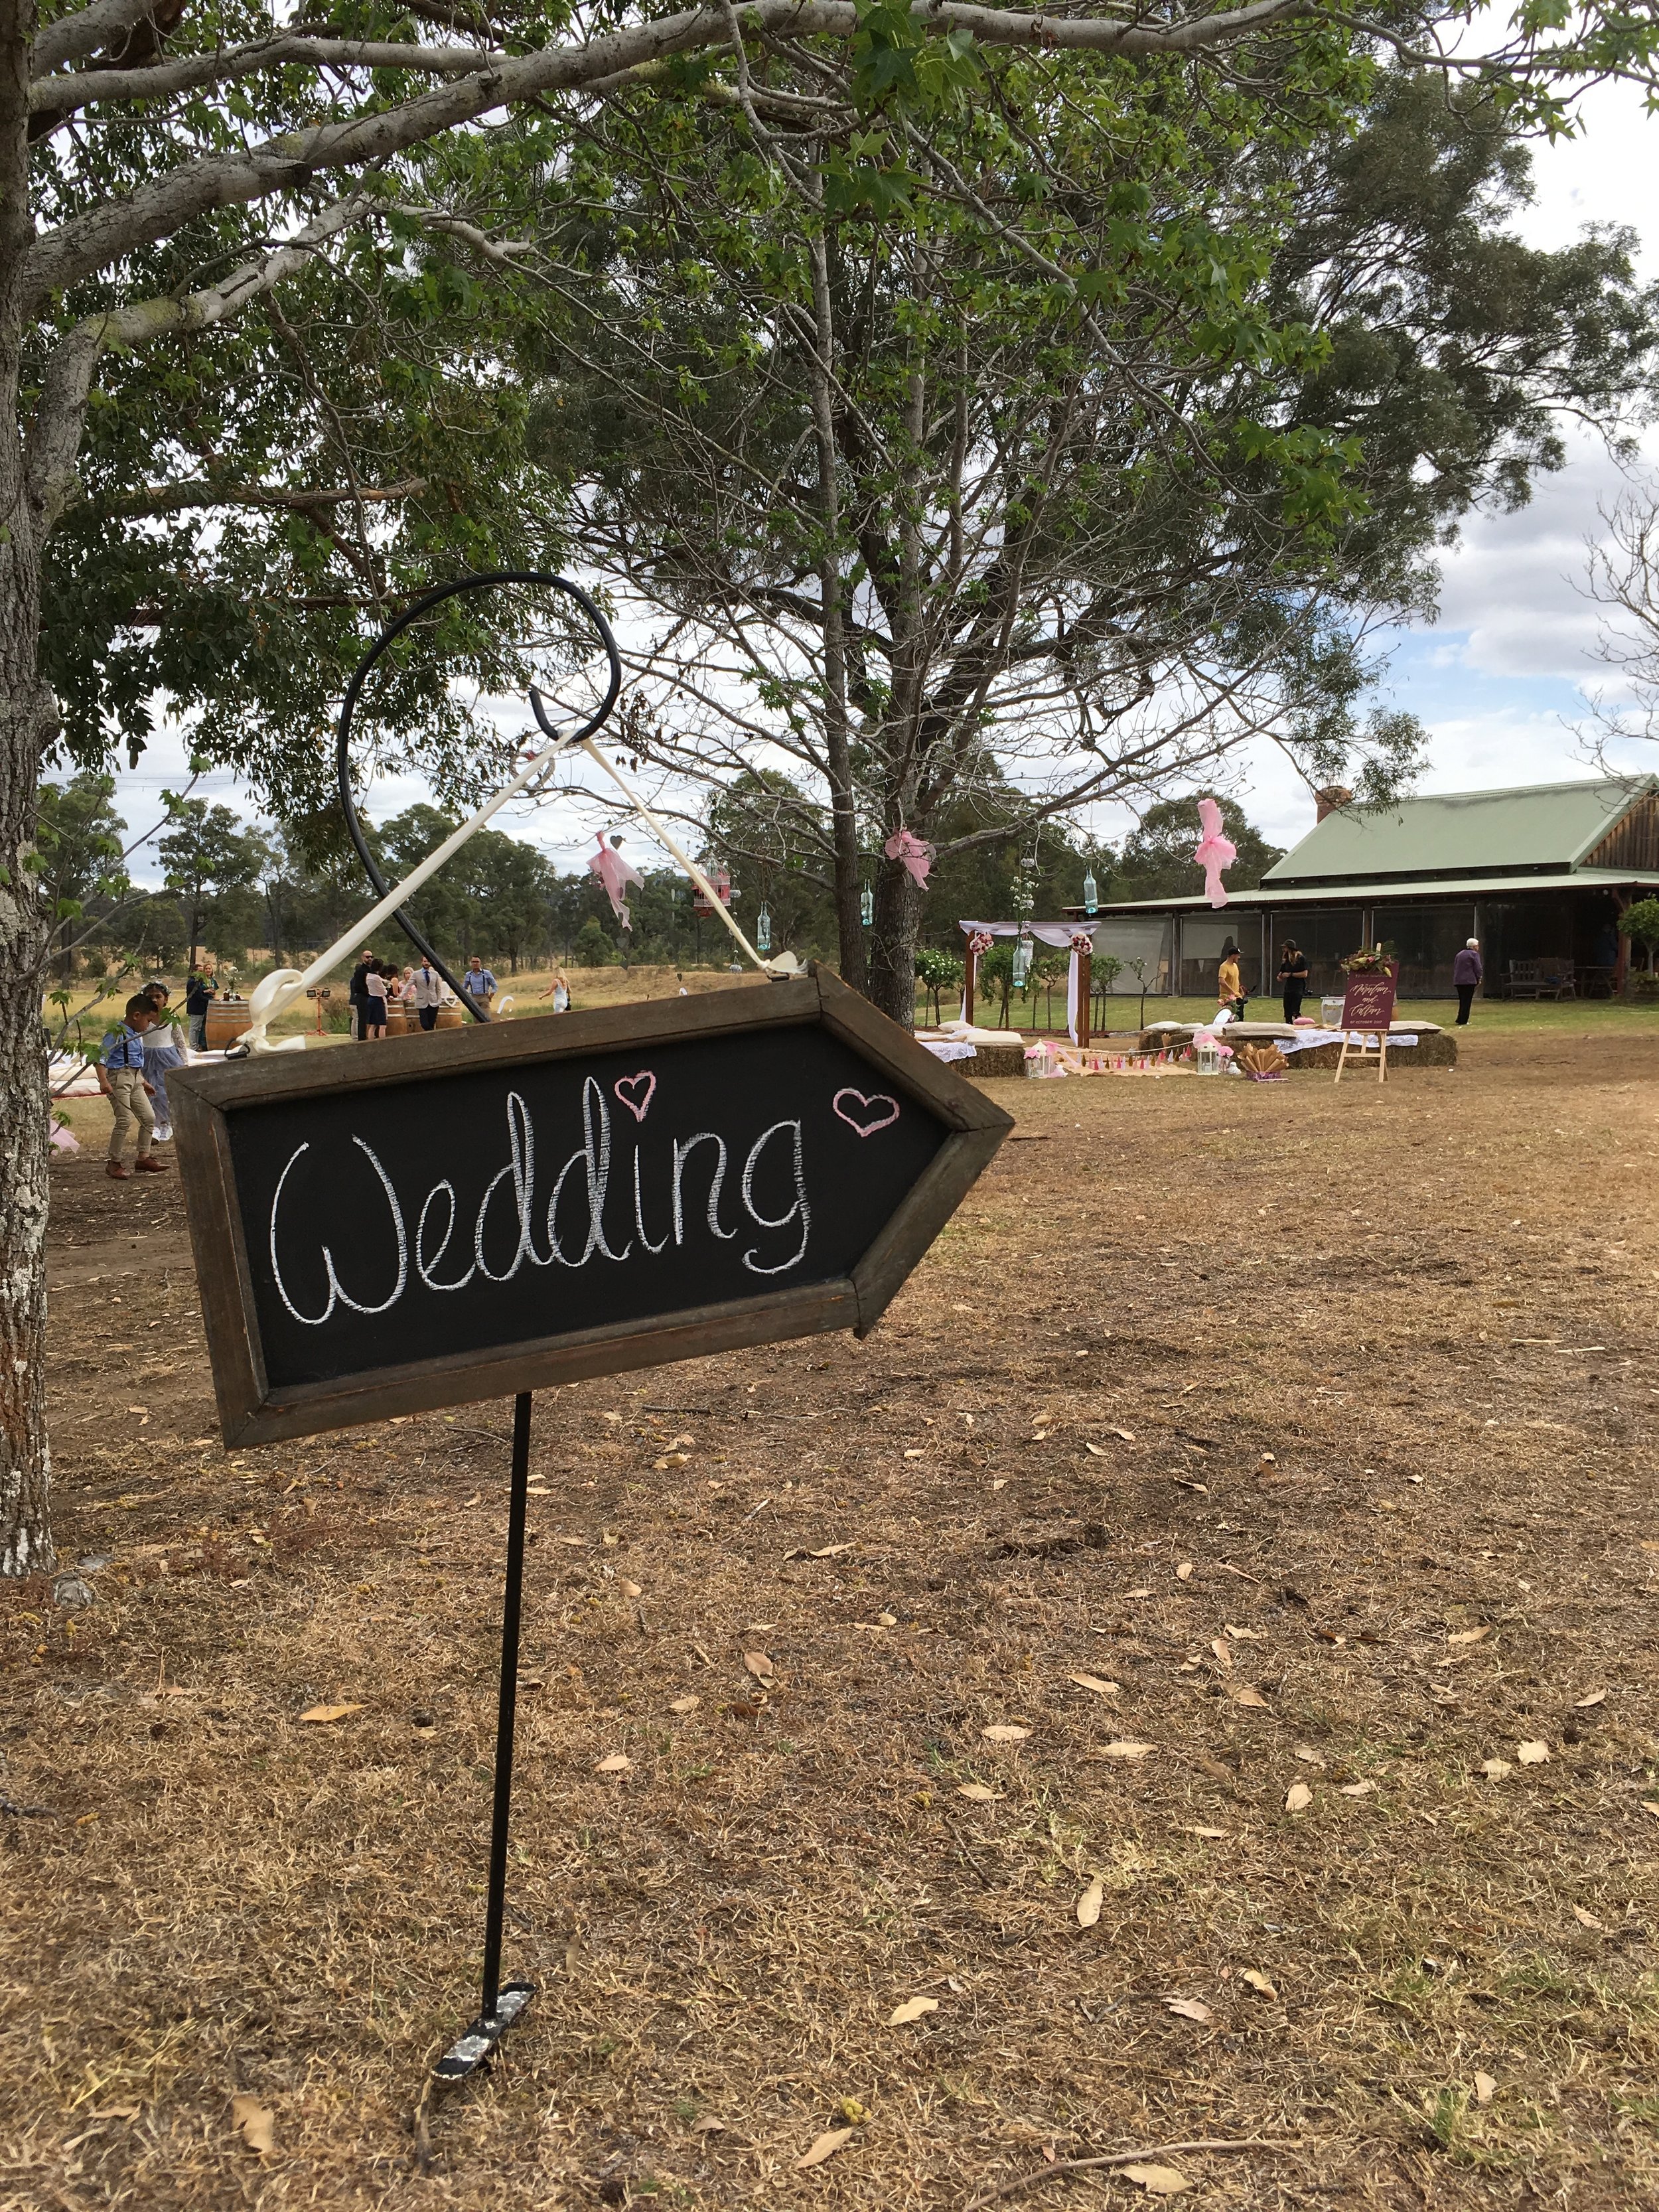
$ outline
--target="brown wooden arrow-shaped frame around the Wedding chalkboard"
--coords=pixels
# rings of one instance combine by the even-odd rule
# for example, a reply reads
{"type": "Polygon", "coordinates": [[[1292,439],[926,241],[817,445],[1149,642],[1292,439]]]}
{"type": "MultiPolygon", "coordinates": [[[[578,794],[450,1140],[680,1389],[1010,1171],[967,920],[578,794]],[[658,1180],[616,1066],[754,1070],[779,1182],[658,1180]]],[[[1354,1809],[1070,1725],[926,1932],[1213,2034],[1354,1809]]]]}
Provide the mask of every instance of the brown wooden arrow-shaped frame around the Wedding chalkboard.
{"type": "Polygon", "coordinates": [[[1013,1128],[1013,1117],[982,1091],[933,1060],[909,1031],[818,967],[799,980],[710,991],[701,998],[650,1000],[593,1013],[489,1022],[467,1031],[422,1031],[369,1046],[341,1044],[173,1068],[168,1097],[226,1444],[314,1436],[387,1420],[394,1413],[504,1398],[542,1385],[622,1374],[710,1352],[737,1352],[787,1336],[832,1329],[867,1336],[1013,1128]],[[365,1378],[270,1385],[228,1137],[228,1115],[239,1106],[372,1091],[407,1084],[418,1075],[531,1066],[630,1044],[672,1044],[801,1024],[827,1029],[947,1128],[945,1144],[847,1276],[684,1310],[668,1318],[608,1323],[383,1367],[365,1378]]]}

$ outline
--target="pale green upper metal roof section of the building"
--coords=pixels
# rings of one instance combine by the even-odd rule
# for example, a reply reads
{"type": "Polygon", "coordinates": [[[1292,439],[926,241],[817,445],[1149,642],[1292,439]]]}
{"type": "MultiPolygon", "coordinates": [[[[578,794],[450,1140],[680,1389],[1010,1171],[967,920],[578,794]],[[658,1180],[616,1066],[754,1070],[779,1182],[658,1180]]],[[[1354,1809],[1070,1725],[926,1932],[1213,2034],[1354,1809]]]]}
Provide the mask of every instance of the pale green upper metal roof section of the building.
{"type": "Polygon", "coordinates": [[[1513,792],[1433,792],[1391,807],[1338,807],[1267,869],[1263,885],[1349,876],[1376,883],[1478,867],[1568,869],[1655,787],[1652,776],[1595,776],[1513,792]]]}

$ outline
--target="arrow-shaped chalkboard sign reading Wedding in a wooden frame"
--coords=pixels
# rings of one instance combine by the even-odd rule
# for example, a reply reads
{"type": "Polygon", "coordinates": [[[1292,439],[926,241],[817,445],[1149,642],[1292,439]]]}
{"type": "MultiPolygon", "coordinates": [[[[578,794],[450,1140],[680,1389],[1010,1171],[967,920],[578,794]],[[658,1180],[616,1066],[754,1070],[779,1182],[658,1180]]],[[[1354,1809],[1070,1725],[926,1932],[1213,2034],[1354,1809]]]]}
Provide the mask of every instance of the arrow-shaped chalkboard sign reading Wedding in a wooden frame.
{"type": "Polygon", "coordinates": [[[818,971],[168,1095],[226,1442],[863,1334],[1011,1126],[818,971]]]}

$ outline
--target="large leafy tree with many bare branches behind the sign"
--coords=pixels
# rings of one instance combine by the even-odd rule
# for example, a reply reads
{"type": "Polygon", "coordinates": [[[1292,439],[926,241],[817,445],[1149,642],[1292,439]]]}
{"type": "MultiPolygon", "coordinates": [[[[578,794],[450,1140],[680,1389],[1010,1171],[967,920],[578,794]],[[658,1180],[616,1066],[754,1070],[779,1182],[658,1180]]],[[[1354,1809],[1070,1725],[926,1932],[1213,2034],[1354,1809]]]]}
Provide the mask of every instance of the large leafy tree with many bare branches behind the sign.
{"type": "Polygon", "coordinates": [[[920,131],[825,117],[763,53],[737,108],[615,102],[535,179],[531,438],[635,611],[628,743],[757,860],[757,768],[787,774],[843,973],[896,1020],[902,832],[1144,807],[1259,732],[1314,787],[1409,774],[1369,626],[1559,460],[1557,407],[1613,420],[1650,372],[1628,239],[1504,232],[1526,161],[1489,100],[1279,33],[1241,80],[1015,53],[920,131]]]}

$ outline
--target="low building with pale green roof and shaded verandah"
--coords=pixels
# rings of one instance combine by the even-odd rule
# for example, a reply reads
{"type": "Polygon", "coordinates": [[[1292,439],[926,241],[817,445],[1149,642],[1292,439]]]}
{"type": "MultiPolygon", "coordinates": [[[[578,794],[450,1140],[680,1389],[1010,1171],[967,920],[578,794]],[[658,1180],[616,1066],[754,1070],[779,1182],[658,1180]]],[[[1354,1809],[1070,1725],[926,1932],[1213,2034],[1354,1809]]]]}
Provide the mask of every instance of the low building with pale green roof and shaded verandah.
{"type": "MultiPolygon", "coordinates": [[[[1117,991],[1206,998],[1221,951],[1239,947],[1245,989],[1272,995],[1279,947],[1307,953],[1314,991],[1338,962],[1387,945],[1402,998],[1451,998],[1451,962],[1480,940],[1489,998],[1624,987],[1619,916],[1659,894],[1659,776],[1436,792],[1387,807],[1318,794],[1318,821],[1259,889],[1102,905],[1095,951],[1124,962],[1117,991]]],[[[1225,816],[1225,807],[1223,807],[1225,816]]],[[[1079,907],[1068,909],[1082,914],[1079,907]]]]}

